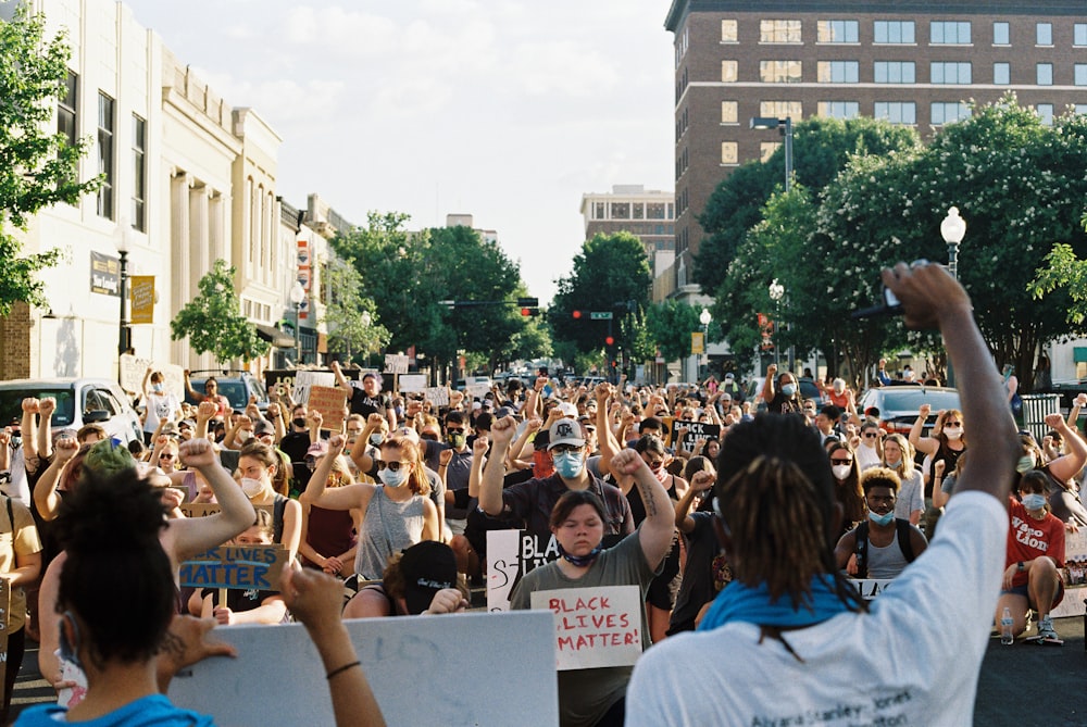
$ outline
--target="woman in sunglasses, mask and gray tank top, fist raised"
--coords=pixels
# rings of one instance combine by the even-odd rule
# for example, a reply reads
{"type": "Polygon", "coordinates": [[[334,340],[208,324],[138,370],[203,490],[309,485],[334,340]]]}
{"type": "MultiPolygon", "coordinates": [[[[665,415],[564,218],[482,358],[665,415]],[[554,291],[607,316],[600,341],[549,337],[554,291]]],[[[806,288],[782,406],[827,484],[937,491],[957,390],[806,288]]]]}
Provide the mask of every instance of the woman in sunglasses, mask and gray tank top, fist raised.
{"type": "Polygon", "coordinates": [[[389,557],[422,540],[438,540],[441,530],[438,510],[427,497],[429,481],[423,471],[418,446],[403,437],[382,444],[382,459],[372,474],[380,485],[360,482],[328,489],[332,461],[343,451],[345,439],[334,435],[328,454],[313,471],[299,498],[326,510],[358,510],[364,513],[359,530],[354,573],[359,580],[379,580],[389,557]]]}

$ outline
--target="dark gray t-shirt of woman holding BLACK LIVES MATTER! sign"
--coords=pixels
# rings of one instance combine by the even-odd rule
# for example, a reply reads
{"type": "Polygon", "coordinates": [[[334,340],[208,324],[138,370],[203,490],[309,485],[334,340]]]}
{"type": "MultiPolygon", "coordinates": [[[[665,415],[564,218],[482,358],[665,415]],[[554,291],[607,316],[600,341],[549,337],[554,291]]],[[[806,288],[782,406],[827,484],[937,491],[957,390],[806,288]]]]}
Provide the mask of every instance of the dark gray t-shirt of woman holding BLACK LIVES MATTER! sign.
{"type": "MultiPolygon", "coordinates": [[[[648,649],[651,642],[646,618],[646,592],[655,573],[641,552],[639,532],[640,528],[623,538],[614,548],[600,553],[592,567],[580,578],[566,576],[558,562],[529,572],[513,589],[510,607],[518,611],[532,607],[533,591],[638,586],[641,589],[641,648],[648,649]]],[[[660,565],[657,572],[660,572],[660,565]]],[[[590,727],[597,724],[626,694],[632,672],[633,666],[559,672],[559,720],[562,727],[590,727]]]]}

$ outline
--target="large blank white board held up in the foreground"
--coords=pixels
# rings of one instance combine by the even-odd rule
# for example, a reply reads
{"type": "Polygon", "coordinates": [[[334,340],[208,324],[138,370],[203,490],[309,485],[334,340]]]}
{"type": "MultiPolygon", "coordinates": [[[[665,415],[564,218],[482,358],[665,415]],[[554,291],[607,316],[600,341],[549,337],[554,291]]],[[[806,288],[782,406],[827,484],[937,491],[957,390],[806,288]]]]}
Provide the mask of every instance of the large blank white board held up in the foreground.
{"type": "MultiPolygon", "coordinates": [[[[554,623],[547,612],[343,625],[389,727],[559,724],[554,623]]],[[[325,668],[304,626],[216,626],[214,638],[234,644],[237,657],[205,659],[179,673],[170,682],[174,704],[220,725],[336,724],[325,668]]]]}

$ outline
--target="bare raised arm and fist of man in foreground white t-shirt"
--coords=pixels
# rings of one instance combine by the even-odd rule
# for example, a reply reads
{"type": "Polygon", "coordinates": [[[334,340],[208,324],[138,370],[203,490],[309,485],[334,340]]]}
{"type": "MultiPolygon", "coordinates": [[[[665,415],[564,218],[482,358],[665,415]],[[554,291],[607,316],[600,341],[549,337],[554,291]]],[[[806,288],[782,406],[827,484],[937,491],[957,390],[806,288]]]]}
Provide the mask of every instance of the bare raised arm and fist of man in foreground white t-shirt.
{"type": "Polygon", "coordinates": [[[963,416],[984,435],[971,441],[971,454],[955,482],[955,492],[980,490],[1007,502],[1015,462],[1023,448],[1015,422],[1001,396],[1002,380],[982,333],[974,323],[970,297],[939,265],[884,270],[884,284],[898,296],[910,328],[939,328],[957,376],[963,416]]]}

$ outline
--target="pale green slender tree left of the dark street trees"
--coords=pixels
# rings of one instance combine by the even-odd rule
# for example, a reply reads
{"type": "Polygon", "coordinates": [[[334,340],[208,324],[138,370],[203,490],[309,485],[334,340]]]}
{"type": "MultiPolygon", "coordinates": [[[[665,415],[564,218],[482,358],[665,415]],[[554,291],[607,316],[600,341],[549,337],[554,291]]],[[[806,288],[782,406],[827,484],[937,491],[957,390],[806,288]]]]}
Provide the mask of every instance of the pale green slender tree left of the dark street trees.
{"type": "Polygon", "coordinates": [[[334,258],[325,268],[323,287],[328,305],[320,323],[328,327],[328,350],[347,359],[380,348],[389,331],[377,321],[377,306],[362,292],[362,276],[349,263],[334,258]]]}

